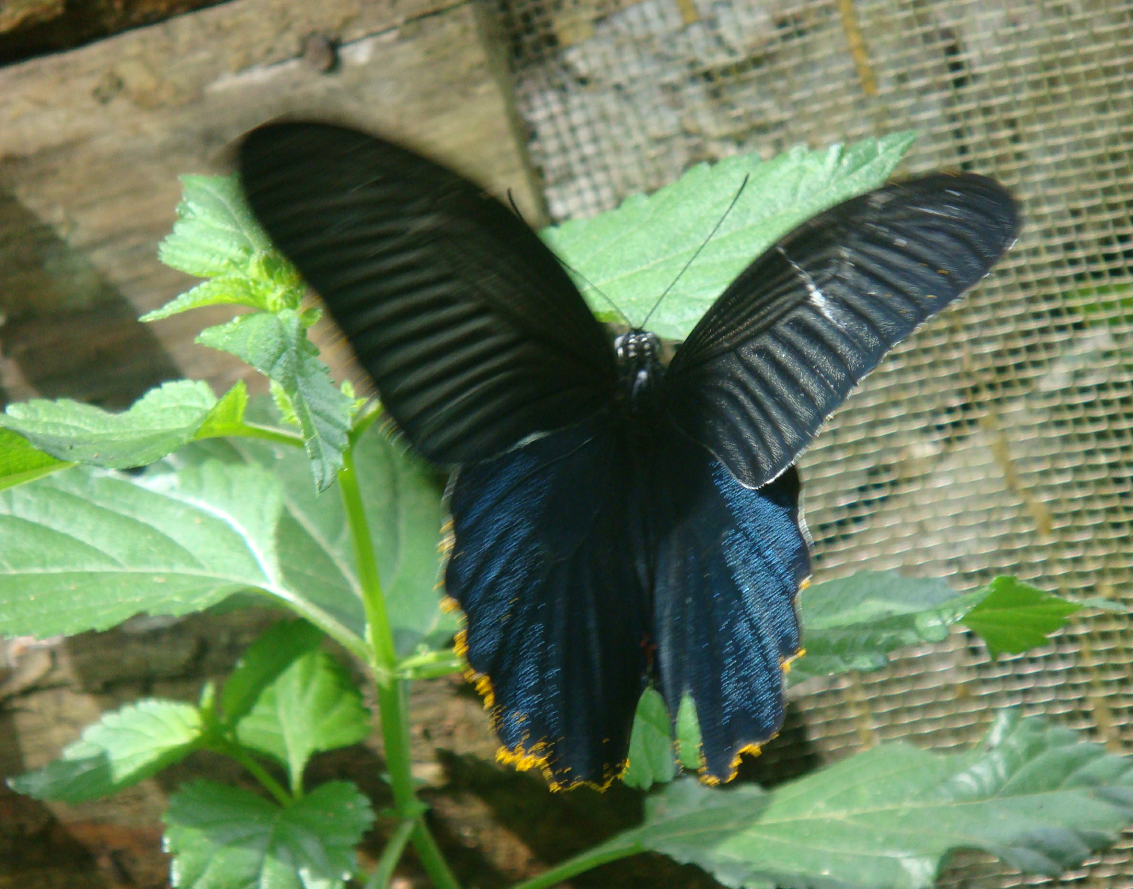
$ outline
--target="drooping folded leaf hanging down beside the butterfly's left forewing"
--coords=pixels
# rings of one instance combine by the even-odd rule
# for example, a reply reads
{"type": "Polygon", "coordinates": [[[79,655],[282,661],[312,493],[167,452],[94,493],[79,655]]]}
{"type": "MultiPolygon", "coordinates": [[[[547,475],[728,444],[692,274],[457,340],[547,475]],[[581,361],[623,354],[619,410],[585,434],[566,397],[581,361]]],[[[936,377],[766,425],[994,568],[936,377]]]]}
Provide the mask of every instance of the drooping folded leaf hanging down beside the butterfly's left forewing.
{"type": "Polygon", "coordinates": [[[283,388],[306,438],[315,485],[318,490],[330,487],[342,468],[351,401],[335,387],[307,340],[300,313],[244,315],[202,331],[197,342],[231,352],[283,388]]]}

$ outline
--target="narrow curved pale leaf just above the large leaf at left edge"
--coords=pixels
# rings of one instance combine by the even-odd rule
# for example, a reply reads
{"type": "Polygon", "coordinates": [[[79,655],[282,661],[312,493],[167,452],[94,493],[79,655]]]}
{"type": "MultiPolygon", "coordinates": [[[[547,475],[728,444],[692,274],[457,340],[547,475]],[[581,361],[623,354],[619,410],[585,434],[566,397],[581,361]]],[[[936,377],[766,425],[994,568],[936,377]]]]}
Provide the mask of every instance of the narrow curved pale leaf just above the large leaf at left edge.
{"type": "Polygon", "coordinates": [[[0,425],[59,460],[127,469],[193,441],[216,407],[206,383],[187,379],[150,390],[122,413],[68,399],[9,404],[0,425]]]}

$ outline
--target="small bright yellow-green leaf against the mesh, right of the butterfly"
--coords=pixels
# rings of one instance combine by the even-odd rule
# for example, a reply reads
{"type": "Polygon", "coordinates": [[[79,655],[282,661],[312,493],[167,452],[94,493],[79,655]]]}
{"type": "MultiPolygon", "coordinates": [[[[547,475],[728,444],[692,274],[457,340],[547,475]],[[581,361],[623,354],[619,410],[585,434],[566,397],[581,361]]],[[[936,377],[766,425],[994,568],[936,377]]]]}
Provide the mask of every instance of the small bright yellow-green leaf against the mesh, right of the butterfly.
{"type": "Polygon", "coordinates": [[[1043,646],[1082,606],[1050,596],[1015,578],[999,576],[987,596],[964,616],[964,625],[980,636],[993,658],[1043,646]]]}

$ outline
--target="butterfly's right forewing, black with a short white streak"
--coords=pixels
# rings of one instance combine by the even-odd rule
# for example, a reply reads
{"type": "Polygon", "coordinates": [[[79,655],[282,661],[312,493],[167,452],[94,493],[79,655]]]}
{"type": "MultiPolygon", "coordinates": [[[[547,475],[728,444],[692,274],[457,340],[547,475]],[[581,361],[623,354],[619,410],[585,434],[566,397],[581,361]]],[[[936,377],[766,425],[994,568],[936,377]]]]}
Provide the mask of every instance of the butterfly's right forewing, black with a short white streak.
{"type": "Polygon", "coordinates": [[[678,349],[668,414],[749,488],[776,478],[897,342],[1015,238],[997,182],[935,173],[815,216],[756,259],[678,349]]]}

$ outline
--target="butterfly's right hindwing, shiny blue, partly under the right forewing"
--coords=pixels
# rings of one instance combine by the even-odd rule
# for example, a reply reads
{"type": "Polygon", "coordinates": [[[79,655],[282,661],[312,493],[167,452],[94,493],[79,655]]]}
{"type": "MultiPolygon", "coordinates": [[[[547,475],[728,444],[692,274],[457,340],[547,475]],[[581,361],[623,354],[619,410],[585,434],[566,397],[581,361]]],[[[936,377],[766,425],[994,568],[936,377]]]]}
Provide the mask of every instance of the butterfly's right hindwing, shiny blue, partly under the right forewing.
{"type": "Polygon", "coordinates": [[[795,596],[810,574],[799,477],[744,487],[676,430],[662,461],[679,471],[654,489],[654,633],[671,713],[692,698],[704,777],[727,781],[740,754],[783,724],[783,670],[800,653],[795,596]]]}

